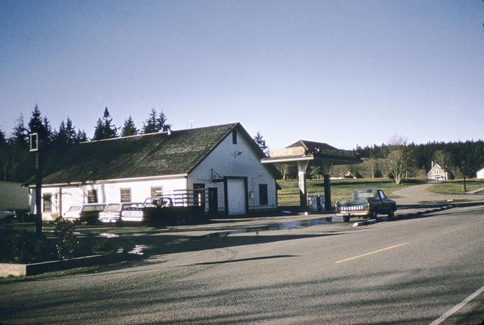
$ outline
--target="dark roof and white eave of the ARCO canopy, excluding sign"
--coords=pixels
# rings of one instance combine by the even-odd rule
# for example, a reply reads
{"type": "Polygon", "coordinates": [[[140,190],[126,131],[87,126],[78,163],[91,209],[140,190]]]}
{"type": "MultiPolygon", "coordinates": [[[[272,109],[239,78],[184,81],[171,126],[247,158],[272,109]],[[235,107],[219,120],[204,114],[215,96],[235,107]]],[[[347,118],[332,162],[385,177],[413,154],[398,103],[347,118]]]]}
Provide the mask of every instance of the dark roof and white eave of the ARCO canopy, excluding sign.
{"type": "Polygon", "coordinates": [[[362,160],[354,151],[337,149],[334,146],[322,142],[299,140],[286,148],[303,147],[304,154],[298,156],[280,156],[263,159],[263,162],[277,163],[280,161],[297,161],[298,159],[327,159],[333,160],[334,164],[359,164],[362,160]]]}

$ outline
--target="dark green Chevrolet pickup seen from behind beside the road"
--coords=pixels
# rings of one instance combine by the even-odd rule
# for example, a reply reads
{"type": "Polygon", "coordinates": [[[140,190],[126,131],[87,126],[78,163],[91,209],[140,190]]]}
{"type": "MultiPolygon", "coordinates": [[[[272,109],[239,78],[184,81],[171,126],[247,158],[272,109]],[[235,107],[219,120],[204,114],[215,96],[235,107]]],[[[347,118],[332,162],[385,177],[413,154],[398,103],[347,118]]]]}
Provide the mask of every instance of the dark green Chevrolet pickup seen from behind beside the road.
{"type": "Polygon", "coordinates": [[[379,189],[358,190],[352,193],[351,200],[337,201],[336,215],[341,215],[345,223],[352,217],[378,218],[378,214],[393,217],[396,202],[386,198],[379,189]]]}

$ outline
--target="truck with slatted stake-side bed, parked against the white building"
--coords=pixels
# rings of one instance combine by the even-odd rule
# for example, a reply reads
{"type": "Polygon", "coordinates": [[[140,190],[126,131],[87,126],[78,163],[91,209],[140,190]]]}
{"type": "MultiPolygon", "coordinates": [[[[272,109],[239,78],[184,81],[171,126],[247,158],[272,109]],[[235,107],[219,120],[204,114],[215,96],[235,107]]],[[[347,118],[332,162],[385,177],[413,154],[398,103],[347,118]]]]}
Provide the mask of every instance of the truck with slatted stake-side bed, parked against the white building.
{"type": "Polygon", "coordinates": [[[170,197],[157,196],[144,200],[142,206],[133,206],[121,211],[122,221],[145,222],[147,225],[167,223],[191,223],[204,216],[204,206],[174,205],[170,197]]]}

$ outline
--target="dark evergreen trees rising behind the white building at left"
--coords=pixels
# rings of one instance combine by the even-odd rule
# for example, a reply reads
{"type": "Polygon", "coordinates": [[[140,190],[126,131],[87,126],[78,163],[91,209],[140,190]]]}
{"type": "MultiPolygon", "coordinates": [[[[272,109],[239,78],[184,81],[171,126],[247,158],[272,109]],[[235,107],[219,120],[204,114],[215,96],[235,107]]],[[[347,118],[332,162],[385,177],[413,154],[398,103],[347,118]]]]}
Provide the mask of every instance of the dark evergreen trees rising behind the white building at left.
{"type": "Polygon", "coordinates": [[[23,182],[35,174],[35,155],[28,151],[28,134],[38,134],[46,151],[43,164],[48,166],[58,154],[72,149],[80,142],[128,137],[169,129],[172,129],[172,124],[168,123],[167,116],[163,111],[157,112],[154,108],[149,112],[141,129],[136,127],[131,116],[125,119],[121,127],[116,127],[109,110],[105,107],[102,116],[95,124],[93,137],[89,138],[84,130],[75,127],[69,117],[65,121],[61,120],[58,128],[53,129],[49,119],[42,116],[38,105],[35,105],[27,125],[24,123],[23,115],[20,114],[11,137],[6,137],[5,132],[0,129],[0,179],[23,182]]]}

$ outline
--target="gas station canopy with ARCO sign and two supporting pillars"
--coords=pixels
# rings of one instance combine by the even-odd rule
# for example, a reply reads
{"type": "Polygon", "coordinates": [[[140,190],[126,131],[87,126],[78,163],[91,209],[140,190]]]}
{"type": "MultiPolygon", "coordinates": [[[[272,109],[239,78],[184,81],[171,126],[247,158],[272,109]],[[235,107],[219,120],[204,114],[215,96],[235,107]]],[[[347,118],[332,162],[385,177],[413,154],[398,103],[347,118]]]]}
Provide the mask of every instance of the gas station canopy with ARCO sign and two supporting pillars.
{"type": "Polygon", "coordinates": [[[354,151],[337,149],[321,142],[299,140],[284,149],[269,151],[269,156],[261,159],[263,164],[297,164],[300,204],[307,205],[306,169],[310,161],[322,166],[325,179],[325,210],[331,210],[330,171],[334,165],[360,164],[362,159],[354,151]]]}

